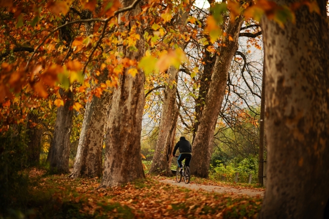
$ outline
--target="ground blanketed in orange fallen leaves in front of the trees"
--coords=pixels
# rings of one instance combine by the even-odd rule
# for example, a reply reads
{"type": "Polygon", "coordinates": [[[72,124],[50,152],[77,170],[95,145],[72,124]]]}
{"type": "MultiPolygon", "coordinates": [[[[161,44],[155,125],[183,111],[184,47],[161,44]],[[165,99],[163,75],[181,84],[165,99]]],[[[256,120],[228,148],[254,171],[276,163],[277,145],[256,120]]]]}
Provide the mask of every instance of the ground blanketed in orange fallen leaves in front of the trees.
{"type": "MultiPolygon", "coordinates": [[[[12,218],[256,218],[262,198],[178,188],[148,177],[121,187],[99,189],[100,179],[68,179],[29,170],[24,207],[12,218]]],[[[1,217],[1,214],[0,214],[1,217]]]]}

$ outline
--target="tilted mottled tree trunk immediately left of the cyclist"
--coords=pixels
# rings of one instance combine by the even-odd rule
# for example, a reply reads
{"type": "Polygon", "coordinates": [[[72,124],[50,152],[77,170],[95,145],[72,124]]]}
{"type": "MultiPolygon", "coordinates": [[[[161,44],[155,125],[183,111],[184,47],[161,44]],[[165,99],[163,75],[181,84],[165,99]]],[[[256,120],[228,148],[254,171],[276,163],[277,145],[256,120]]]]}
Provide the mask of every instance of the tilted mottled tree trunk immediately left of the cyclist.
{"type": "Polygon", "coordinates": [[[150,173],[164,173],[166,176],[173,176],[171,171],[172,153],[175,147],[175,133],[178,119],[178,109],[176,106],[176,86],[170,87],[172,81],[178,80],[178,69],[171,66],[168,69],[170,77],[167,80],[165,98],[161,110],[161,121],[159,125],[159,135],[156,141],[154,156],[152,159],[150,173]]]}

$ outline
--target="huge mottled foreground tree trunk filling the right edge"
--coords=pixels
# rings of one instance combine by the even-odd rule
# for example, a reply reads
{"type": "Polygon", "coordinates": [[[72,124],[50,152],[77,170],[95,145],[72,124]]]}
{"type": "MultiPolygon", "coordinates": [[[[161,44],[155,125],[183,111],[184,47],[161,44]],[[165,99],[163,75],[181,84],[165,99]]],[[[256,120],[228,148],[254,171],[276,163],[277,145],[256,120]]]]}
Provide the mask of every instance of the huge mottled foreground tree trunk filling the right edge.
{"type": "Polygon", "coordinates": [[[316,2],[320,15],[303,6],[296,24],[286,22],[284,28],[263,19],[268,170],[260,218],[324,218],[329,37],[326,1],[316,2]]]}

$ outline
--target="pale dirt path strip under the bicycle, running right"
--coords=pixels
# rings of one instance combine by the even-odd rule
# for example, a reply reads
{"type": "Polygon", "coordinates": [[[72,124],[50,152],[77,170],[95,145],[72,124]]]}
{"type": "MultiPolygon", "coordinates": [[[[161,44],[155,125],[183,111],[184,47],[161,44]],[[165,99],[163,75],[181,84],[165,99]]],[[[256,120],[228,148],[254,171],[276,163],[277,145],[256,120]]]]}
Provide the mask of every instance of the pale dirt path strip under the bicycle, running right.
{"type": "Polygon", "coordinates": [[[160,180],[161,183],[168,183],[171,185],[186,187],[189,189],[203,189],[208,192],[218,192],[218,193],[235,193],[239,195],[249,195],[249,196],[264,196],[263,191],[256,191],[252,189],[235,189],[232,187],[224,187],[224,186],[207,186],[201,184],[185,184],[184,182],[177,183],[176,180],[160,180]]]}

